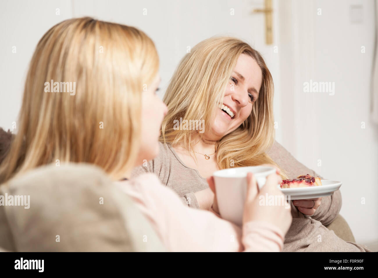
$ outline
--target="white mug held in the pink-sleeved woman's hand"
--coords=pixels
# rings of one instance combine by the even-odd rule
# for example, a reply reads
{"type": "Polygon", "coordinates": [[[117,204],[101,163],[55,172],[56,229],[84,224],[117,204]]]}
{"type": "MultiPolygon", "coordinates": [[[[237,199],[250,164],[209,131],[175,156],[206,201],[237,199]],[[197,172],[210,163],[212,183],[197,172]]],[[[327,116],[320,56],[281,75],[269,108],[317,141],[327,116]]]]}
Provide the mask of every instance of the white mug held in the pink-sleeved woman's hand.
{"type": "Polygon", "coordinates": [[[248,166],[223,169],[213,173],[220,216],[240,226],[243,222],[249,172],[254,174],[261,189],[265,185],[266,177],[275,173],[276,169],[268,166],[248,166]]]}

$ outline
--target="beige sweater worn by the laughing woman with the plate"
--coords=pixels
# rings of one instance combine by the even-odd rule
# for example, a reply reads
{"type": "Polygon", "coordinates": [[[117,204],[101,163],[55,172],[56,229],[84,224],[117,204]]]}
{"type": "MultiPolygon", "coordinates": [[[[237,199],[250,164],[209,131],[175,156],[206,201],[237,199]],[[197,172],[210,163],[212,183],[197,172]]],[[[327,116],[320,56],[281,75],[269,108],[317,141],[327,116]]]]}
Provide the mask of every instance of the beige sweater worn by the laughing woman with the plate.
{"type": "MultiPolygon", "coordinates": [[[[314,171],[299,163],[285,148],[276,141],[268,152],[270,157],[284,169],[289,178],[310,174],[314,171]]],[[[199,208],[194,193],[208,188],[206,179],[195,169],[187,167],[169,144],[160,143],[160,153],[152,161],[135,168],[133,176],[144,172],[153,172],[163,185],[173,189],[189,207],[199,208]]],[[[328,230],[324,225],[330,224],[341,209],[341,193],[322,198],[320,207],[311,216],[304,216],[291,202],[293,222],[285,236],[284,252],[369,252],[364,245],[345,242],[328,230]]]]}

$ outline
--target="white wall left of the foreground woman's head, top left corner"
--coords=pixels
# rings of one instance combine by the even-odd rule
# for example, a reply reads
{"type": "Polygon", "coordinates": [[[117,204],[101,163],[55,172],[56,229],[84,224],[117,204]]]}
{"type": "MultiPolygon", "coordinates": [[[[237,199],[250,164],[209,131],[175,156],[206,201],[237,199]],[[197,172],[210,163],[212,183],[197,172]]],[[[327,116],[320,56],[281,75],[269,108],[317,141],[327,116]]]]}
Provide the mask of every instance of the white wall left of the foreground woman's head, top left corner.
{"type": "MultiPolygon", "coordinates": [[[[42,35],[72,16],[68,1],[2,1],[0,4],[0,127],[12,129],[21,106],[28,65],[42,35]],[[60,16],[55,15],[59,7],[60,16]],[[16,53],[12,48],[16,47],[16,53]]],[[[17,127],[17,125],[16,125],[17,127]]],[[[14,131],[16,132],[17,129],[14,131]]]]}

